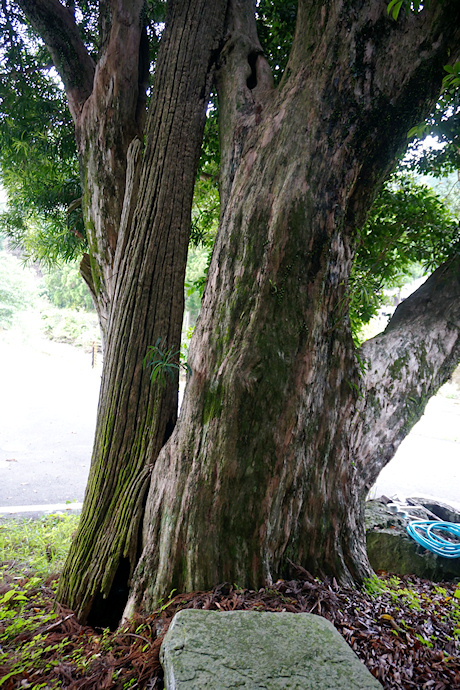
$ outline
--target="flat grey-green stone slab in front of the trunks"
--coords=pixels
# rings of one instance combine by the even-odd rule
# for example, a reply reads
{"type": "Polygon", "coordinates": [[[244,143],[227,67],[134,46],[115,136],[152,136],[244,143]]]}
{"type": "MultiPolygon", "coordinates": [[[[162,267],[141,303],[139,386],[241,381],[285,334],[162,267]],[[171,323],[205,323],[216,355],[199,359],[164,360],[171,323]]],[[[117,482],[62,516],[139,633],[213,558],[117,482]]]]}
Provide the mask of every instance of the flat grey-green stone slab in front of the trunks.
{"type": "Polygon", "coordinates": [[[161,652],[166,690],[376,690],[332,623],[309,613],[179,611],[161,652]]]}

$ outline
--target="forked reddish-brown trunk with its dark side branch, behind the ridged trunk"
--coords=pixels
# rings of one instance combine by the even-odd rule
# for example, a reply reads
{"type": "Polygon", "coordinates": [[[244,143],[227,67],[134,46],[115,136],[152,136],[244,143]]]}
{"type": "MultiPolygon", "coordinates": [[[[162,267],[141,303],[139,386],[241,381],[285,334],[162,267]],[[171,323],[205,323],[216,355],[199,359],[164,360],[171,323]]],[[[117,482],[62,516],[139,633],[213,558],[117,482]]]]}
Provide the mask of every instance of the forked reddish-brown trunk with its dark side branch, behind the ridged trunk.
{"type": "Polygon", "coordinates": [[[89,253],[81,265],[103,340],[115,289],[114,259],[125,194],[127,151],[142,135],[148,79],[144,0],[101,2],[100,55],[88,54],[73,6],[19,0],[45,41],[66,89],[80,158],[89,253]],[[89,262],[89,265],[88,265],[89,262]]]}

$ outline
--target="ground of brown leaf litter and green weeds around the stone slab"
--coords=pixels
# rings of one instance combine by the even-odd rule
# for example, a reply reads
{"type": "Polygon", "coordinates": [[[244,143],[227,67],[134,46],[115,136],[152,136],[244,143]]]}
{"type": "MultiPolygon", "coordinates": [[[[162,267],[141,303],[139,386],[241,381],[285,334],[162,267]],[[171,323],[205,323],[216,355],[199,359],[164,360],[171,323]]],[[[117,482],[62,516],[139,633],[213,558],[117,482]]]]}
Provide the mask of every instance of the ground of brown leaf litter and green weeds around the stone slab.
{"type": "Polygon", "coordinates": [[[460,688],[460,590],[452,583],[381,572],[355,590],[298,568],[298,579],[259,591],[221,585],[174,596],[153,614],[110,632],[82,626],[72,611],[54,608],[57,577],[36,584],[5,575],[1,690],[163,688],[160,645],[183,608],[324,616],[384,688],[460,688]]]}

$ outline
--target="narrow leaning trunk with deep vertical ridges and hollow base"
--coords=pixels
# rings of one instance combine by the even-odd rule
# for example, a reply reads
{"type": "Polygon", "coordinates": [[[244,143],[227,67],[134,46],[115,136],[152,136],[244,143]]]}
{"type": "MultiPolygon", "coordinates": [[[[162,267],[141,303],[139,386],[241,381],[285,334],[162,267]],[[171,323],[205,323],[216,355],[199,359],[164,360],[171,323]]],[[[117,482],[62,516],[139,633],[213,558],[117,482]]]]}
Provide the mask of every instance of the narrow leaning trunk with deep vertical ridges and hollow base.
{"type": "Polygon", "coordinates": [[[180,349],[193,187],[225,5],[170,3],[145,152],[137,140],[128,151],[91,472],[58,592],[98,624],[121,615],[149,473],[177,418],[177,369],[153,385],[143,361],[158,340],[163,351],[180,349]]]}

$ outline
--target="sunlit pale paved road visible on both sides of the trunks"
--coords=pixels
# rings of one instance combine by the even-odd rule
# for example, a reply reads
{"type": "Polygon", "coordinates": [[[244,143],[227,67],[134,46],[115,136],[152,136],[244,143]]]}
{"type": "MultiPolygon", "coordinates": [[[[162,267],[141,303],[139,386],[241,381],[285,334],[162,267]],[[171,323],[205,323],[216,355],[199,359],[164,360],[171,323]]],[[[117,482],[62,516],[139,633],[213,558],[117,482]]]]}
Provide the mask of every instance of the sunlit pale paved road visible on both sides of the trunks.
{"type": "MultiPolygon", "coordinates": [[[[0,337],[0,514],[81,503],[100,375],[70,345],[0,337]]],[[[446,395],[459,391],[430,401],[371,496],[430,496],[460,509],[460,397],[446,395]]]]}

